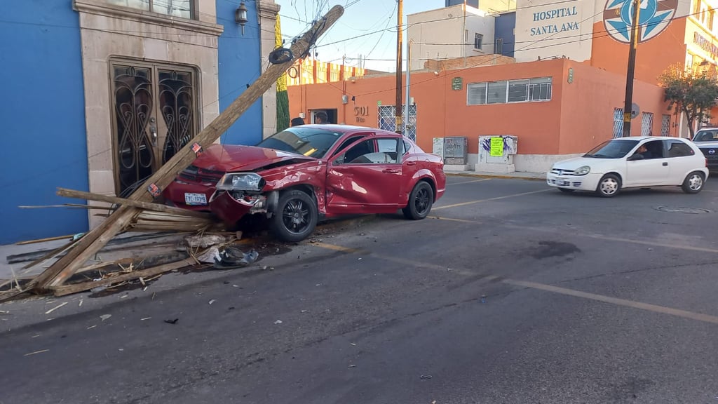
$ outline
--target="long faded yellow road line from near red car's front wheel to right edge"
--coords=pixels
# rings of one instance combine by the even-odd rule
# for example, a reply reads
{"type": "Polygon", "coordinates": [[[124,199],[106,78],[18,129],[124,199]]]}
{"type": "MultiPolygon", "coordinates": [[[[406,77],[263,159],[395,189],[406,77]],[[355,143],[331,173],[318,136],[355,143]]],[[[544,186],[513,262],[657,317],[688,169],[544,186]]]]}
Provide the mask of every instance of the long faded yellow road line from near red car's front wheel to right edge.
{"type": "MultiPolygon", "coordinates": [[[[317,247],[325,248],[325,249],[332,249],[335,251],[343,251],[343,252],[362,252],[363,251],[360,249],[353,249],[353,248],[342,247],[342,246],[338,246],[338,245],[334,245],[334,244],[326,244],[326,243],[314,243],[314,245],[316,245],[317,247]]],[[[417,262],[417,261],[413,261],[413,260],[407,260],[405,258],[388,257],[388,256],[378,255],[378,254],[372,254],[372,255],[380,260],[393,261],[393,262],[397,262],[399,264],[407,265],[407,266],[411,266],[411,267],[424,267],[424,268],[428,268],[428,269],[432,269],[432,270],[440,270],[442,272],[443,271],[451,272],[453,274],[462,275],[462,276],[479,275],[475,272],[471,272],[468,270],[451,269],[448,267],[444,267],[444,265],[437,265],[437,264],[432,264],[429,262],[417,262]]],[[[495,279],[498,279],[499,277],[497,275],[485,275],[483,278],[485,280],[495,280],[495,279]]],[[[583,298],[583,299],[587,299],[587,300],[595,300],[595,301],[600,301],[603,303],[614,304],[616,306],[638,308],[639,310],[652,311],[653,313],[668,314],[669,316],[689,318],[690,320],[701,321],[704,323],[718,324],[717,316],[711,316],[709,314],[695,313],[692,311],[680,310],[678,308],[658,306],[655,304],[643,303],[643,302],[638,302],[635,300],[613,298],[611,296],[597,295],[596,293],[582,292],[581,290],[560,288],[560,287],[554,286],[554,285],[546,285],[544,283],[528,282],[528,281],[524,281],[524,280],[502,279],[501,283],[505,283],[507,285],[513,285],[513,286],[521,286],[523,288],[544,290],[546,292],[558,293],[560,295],[574,296],[576,298],[583,298]]]]}

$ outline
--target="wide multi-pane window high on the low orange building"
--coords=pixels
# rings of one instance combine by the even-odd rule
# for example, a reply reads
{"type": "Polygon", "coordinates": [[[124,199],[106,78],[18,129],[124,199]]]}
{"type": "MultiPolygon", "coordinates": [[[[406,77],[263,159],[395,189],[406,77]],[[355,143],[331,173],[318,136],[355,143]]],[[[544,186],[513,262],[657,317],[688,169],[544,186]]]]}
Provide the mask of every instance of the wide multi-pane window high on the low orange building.
{"type": "Polygon", "coordinates": [[[467,105],[551,101],[551,85],[550,77],[470,83],[467,105]]]}

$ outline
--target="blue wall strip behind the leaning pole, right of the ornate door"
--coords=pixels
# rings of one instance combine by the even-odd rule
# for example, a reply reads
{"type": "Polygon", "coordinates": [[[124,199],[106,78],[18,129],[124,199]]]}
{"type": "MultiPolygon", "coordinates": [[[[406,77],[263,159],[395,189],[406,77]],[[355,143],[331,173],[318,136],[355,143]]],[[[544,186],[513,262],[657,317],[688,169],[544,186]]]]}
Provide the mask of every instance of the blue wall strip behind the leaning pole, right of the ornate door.
{"type": "MultiPolygon", "coordinates": [[[[247,89],[261,75],[262,63],[266,56],[260,55],[261,36],[257,22],[255,0],[246,0],[248,9],[244,26],[244,35],[239,24],[234,21],[234,12],[239,1],[217,0],[217,24],[224,26],[219,38],[219,97],[220,112],[247,89]]],[[[274,25],[262,27],[274,32],[274,25]]],[[[226,144],[257,144],[262,139],[261,98],[253,104],[222,136],[226,144]]]]}

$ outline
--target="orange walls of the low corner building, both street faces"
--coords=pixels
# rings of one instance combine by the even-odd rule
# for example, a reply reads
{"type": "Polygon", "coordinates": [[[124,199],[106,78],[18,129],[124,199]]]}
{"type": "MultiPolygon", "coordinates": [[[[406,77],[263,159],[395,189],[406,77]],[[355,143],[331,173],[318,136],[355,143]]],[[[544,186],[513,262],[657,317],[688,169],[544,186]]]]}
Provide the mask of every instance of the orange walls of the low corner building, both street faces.
{"type": "MultiPolygon", "coordinates": [[[[438,75],[412,73],[417,143],[430,152],[434,137],[465,136],[469,152],[477,153],[479,136],[504,134],[518,136],[521,155],[585,152],[612,137],[613,111],[623,107],[623,74],[566,59],[447,70],[438,75]],[[569,68],[574,70],[572,83],[568,83],[569,68]],[[467,105],[470,83],[541,77],[553,78],[551,101],[467,105]],[[452,90],[453,78],[462,78],[460,91],[452,90]]],[[[290,112],[309,116],[314,109],[337,109],[340,123],[378,127],[378,102],[395,103],[395,83],[394,75],[381,75],[354,82],[292,86],[288,88],[290,112]],[[348,96],[348,104],[342,104],[342,94],[348,96]]],[[[642,111],[653,112],[653,134],[660,134],[661,115],[668,114],[661,88],[637,82],[634,99],[642,111]]],[[[634,133],[640,134],[640,117],[633,125],[634,133]]]]}

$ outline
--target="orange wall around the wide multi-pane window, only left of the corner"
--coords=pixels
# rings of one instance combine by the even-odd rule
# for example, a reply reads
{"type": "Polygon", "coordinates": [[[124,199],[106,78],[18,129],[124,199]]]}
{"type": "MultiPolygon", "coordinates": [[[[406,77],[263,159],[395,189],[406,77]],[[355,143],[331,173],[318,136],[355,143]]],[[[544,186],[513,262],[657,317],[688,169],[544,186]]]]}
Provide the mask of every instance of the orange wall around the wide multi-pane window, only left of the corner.
{"type": "MultiPolygon", "coordinates": [[[[558,152],[561,83],[554,83],[553,99],[545,102],[467,106],[467,84],[517,78],[560,75],[562,60],[517,63],[466,70],[447,70],[411,74],[411,97],[417,106],[417,143],[432,150],[432,139],[445,136],[466,136],[469,151],[477,153],[478,137],[485,134],[521,134],[522,154],[555,154],[558,152]],[[461,77],[461,91],[451,89],[452,78],[461,77]],[[528,128],[531,130],[527,130],[528,128]]],[[[292,116],[314,109],[337,109],[340,123],[378,126],[377,101],[393,105],[396,100],[394,75],[360,78],[345,82],[351,99],[342,105],[342,83],[322,83],[288,88],[292,116]],[[368,107],[364,122],[356,122],[354,107],[368,107]]]]}

